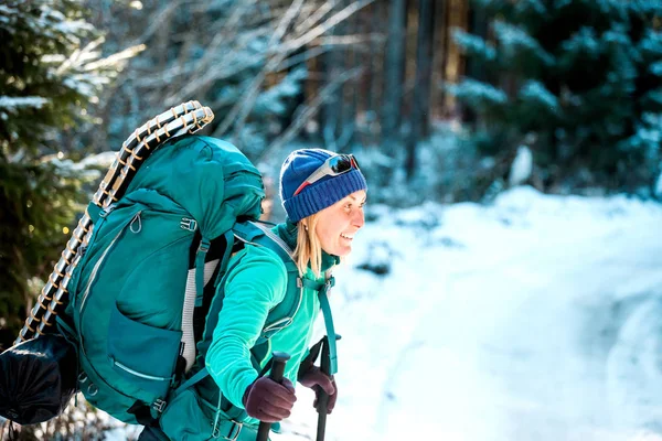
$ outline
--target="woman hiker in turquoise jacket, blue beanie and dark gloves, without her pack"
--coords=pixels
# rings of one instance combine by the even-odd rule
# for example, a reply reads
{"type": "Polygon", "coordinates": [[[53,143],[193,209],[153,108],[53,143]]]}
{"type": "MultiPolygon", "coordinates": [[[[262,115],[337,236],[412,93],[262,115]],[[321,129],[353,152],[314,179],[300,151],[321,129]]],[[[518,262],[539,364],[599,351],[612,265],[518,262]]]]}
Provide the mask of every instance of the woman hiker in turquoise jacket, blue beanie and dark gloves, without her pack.
{"type": "MultiPolygon", "coordinates": [[[[280,173],[280,197],[287,220],[274,228],[293,250],[303,279],[324,281],[340,259],[352,250],[356,232],[363,227],[366,182],[352,155],[321,149],[292,152],[280,173]]],[[[271,351],[291,358],[282,384],[258,378],[250,349],[261,333],[268,312],[288,294],[282,260],[265,247],[247,245],[229,262],[225,298],[206,356],[206,367],[223,397],[247,417],[237,427],[221,424],[221,435],[255,440],[259,421],[278,422],[289,417],[296,401],[293,384],[329,394],[328,412],[338,397],[333,380],[311,363],[308,353],[312,325],[320,310],[316,291],[306,289],[293,322],[275,334],[271,351]],[[227,432],[227,433],[224,433],[227,432]]]]}

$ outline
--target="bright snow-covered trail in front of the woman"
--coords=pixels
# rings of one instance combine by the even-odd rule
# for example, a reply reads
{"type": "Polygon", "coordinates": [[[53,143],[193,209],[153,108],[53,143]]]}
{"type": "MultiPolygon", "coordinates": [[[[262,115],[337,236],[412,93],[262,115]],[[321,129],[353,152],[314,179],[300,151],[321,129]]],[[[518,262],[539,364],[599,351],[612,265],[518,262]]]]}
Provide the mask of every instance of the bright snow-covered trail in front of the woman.
{"type": "MultiPolygon", "coordinates": [[[[338,275],[328,439],[662,440],[661,223],[530,189],[384,211],[352,263],[391,254],[389,276],[338,275]]],[[[313,410],[285,427],[312,437],[313,410]]]]}

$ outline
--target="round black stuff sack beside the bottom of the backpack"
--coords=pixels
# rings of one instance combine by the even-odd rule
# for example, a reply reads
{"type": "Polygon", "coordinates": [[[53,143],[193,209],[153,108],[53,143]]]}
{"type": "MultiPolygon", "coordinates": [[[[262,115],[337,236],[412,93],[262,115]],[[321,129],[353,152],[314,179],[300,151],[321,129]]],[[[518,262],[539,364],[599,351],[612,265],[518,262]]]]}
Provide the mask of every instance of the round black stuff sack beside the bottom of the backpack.
{"type": "Polygon", "coordinates": [[[77,356],[61,335],[46,334],[0,354],[0,416],[19,424],[57,417],[76,392],[77,356]]]}

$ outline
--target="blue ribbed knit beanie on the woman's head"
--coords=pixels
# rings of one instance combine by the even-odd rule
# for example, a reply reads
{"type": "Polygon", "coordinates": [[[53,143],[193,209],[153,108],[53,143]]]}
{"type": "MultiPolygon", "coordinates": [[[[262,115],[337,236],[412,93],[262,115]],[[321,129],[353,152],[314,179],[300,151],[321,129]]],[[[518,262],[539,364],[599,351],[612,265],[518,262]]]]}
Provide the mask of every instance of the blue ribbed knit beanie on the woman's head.
{"type": "Polygon", "coordinates": [[[280,198],[291,222],[299,222],[320,212],[359,190],[367,190],[361,171],[351,170],[338,176],[324,176],[293,195],[312,172],[335,154],[323,149],[301,149],[291,152],[282,163],[280,198]]]}

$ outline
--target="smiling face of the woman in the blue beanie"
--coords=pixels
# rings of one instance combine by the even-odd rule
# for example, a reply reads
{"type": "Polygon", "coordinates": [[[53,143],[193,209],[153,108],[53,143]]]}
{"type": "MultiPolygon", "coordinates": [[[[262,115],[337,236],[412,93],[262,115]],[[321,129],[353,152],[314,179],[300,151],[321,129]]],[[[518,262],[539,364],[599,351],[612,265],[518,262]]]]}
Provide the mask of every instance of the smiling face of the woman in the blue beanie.
{"type": "Polygon", "coordinates": [[[343,257],[352,251],[354,235],[364,224],[365,197],[360,190],[319,212],[316,233],[327,254],[343,257]]]}

